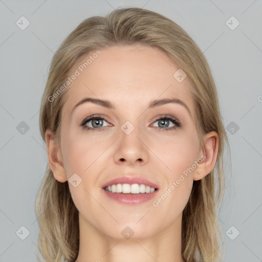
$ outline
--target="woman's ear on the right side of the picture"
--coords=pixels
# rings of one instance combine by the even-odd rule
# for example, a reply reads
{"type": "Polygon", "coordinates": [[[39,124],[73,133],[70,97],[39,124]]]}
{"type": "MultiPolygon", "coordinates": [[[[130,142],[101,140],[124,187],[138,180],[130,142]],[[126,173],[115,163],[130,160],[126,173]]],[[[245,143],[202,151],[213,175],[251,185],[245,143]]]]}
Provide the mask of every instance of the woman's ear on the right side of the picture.
{"type": "Polygon", "coordinates": [[[216,162],[219,150],[219,135],[215,131],[209,132],[204,138],[204,148],[199,156],[199,164],[194,170],[194,180],[200,180],[209,174],[216,162]]]}

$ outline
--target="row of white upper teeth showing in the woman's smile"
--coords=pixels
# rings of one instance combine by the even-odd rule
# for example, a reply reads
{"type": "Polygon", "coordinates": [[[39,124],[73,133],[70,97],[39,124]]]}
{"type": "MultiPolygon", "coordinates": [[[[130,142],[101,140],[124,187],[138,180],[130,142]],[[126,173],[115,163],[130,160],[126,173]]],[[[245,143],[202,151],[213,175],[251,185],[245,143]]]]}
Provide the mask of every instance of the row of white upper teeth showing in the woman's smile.
{"type": "Polygon", "coordinates": [[[132,193],[132,194],[139,194],[139,193],[151,193],[155,191],[155,188],[150,186],[146,186],[144,184],[115,184],[111,186],[107,186],[105,188],[106,191],[110,191],[112,193],[132,193]]]}

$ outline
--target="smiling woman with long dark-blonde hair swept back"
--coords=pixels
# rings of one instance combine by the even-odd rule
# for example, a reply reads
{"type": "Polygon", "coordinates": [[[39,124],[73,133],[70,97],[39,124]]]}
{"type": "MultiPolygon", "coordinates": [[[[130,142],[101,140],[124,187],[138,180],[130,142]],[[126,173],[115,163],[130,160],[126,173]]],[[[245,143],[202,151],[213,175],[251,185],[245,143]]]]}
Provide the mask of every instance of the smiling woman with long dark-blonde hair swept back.
{"type": "Polygon", "coordinates": [[[84,20],[52,59],[40,131],[46,261],[221,261],[227,136],[207,61],[173,21],[84,20]]]}

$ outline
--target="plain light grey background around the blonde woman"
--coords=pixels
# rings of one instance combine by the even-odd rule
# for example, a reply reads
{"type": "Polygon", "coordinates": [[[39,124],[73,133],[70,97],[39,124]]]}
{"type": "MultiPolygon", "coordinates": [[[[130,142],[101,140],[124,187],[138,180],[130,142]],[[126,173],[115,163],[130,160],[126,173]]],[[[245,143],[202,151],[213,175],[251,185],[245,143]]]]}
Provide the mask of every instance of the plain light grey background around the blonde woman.
{"type": "Polygon", "coordinates": [[[34,202],[48,160],[38,119],[53,53],[80,21],[120,6],[169,17],[207,58],[232,157],[233,179],[227,168],[219,215],[225,261],[262,261],[261,0],[0,1],[0,261],[36,261],[34,202]],[[30,22],[25,30],[16,25],[21,16],[30,22]],[[236,19],[240,24],[234,28],[236,19]],[[30,232],[24,240],[27,231],[21,226],[30,232]]]}

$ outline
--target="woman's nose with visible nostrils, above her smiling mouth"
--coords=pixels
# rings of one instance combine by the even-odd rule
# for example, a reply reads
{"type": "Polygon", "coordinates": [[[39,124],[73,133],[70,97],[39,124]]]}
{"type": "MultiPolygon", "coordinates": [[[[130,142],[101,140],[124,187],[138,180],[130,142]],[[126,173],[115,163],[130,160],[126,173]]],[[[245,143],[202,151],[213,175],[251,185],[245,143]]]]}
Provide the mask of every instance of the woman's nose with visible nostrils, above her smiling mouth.
{"type": "Polygon", "coordinates": [[[114,161],[117,164],[144,165],[148,162],[148,148],[138,128],[129,135],[120,130],[117,147],[114,153],[114,161]]]}

